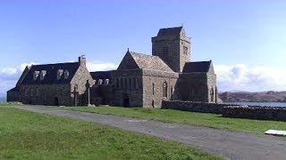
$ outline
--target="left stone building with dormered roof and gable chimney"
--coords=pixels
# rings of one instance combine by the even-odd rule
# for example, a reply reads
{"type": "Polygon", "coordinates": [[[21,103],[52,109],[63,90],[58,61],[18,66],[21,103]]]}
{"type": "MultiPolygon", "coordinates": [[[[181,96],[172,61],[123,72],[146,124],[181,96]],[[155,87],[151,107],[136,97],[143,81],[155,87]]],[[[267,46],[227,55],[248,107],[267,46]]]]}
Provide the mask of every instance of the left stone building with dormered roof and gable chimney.
{"type": "Polygon", "coordinates": [[[32,65],[24,70],[21,78],[19,84],[7,92],[7,101],[56,106],[86,105],[87,84],[94,84],[84,57],[73,63],[32,65]]]}

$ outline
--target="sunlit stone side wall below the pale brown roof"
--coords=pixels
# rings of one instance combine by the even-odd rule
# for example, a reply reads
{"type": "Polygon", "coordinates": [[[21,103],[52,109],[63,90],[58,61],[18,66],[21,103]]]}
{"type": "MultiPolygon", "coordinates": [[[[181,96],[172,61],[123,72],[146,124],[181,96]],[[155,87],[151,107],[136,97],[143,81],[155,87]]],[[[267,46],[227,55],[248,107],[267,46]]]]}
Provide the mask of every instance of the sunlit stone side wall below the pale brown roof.
{"type": "Polygon", "coordinates": [[[174,88],[178,76],[177,73],[143,70],[143,107],[161,108],[162,100],[176,99],[178,96],[174,88]],[[167,84],[167,97],[163,94],[164,83],[167,84]]]}

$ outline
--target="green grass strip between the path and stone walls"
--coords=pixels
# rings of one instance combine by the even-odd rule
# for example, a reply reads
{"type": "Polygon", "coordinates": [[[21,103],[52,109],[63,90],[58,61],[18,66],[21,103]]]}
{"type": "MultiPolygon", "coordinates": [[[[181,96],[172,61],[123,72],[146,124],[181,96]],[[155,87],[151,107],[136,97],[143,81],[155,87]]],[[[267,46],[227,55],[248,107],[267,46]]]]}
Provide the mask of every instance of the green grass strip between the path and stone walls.
{"type": "Polygon", "coordinates": [[[117,107],[68,107],[66,109],[105,115],[152,119],[169,123],[192,124],[228,131],[251,132],[260,135],[269,129],[286,130],[286,122],[228,118],[216,114],[186,112],[172,109],[117,107]]]}

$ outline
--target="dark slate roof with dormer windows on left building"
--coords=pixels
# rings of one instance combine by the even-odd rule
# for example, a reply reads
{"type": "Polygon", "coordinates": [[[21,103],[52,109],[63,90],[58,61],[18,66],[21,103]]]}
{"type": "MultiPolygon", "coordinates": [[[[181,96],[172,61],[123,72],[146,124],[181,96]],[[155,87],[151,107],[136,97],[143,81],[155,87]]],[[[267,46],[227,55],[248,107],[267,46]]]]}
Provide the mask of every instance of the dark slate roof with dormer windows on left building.
{"type": "Polygon", "coordinates": [[[27,76],[25,76],[22,84],[69,84],[79,67],[79,62],[33,65],[30,67],[29,72],[27,76]],[[56,76],[58,69],[63,69],[63,72],[64,70],[67,70],[69,72],[68,78],[64,79],[63,73],[61,79],[57,79],[56,76]],[[37,80],[33,80],[34,72],[40,72],[41,70],[46,70],[46,76],[44,79],[40,80],[40,75],[38,75],[37,80]]]}

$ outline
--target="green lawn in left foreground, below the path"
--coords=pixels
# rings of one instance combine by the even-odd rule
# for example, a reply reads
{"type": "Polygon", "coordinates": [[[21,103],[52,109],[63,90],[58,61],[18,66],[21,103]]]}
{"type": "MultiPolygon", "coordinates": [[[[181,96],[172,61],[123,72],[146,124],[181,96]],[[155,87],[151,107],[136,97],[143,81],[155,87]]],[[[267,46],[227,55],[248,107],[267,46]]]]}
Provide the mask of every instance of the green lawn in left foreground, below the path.
{"type": "Polygon", "coordinates": [[[0,105],[0,159],[71,158],[222,159],[173,141],[0,105]]]}

